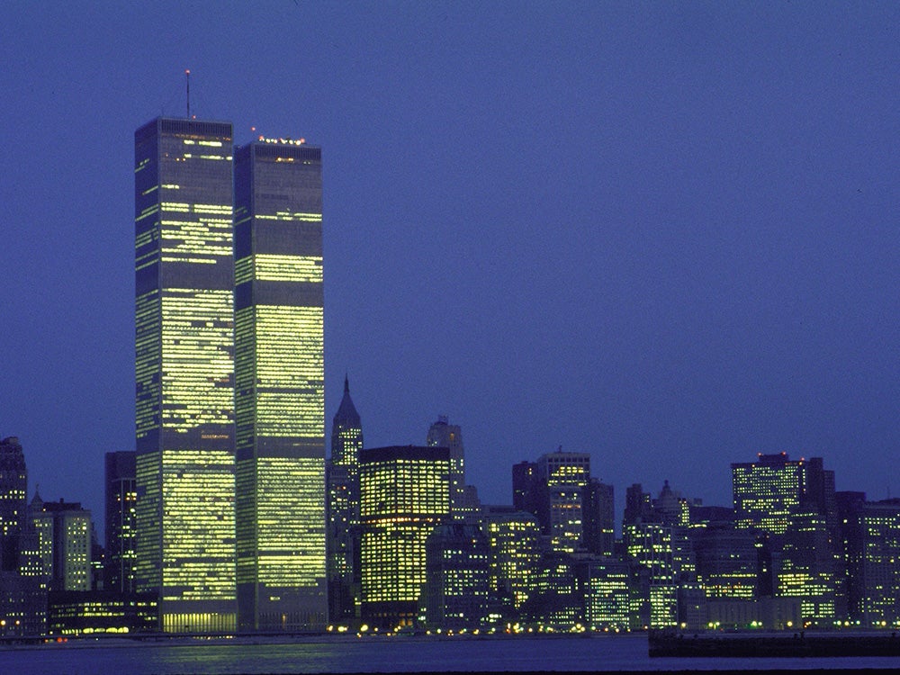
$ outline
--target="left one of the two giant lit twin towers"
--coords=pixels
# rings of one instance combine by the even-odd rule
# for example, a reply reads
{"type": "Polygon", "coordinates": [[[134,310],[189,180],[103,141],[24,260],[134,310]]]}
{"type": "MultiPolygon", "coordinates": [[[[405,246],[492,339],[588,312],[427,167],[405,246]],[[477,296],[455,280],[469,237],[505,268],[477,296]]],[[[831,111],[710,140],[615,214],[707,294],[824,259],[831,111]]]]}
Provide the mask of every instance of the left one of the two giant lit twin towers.
{"type": "Polygon", "coordinates": [[[231,138],[134,134],[136,585],[166,632],[235,627],[231,138]]]}

